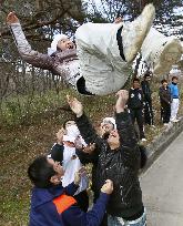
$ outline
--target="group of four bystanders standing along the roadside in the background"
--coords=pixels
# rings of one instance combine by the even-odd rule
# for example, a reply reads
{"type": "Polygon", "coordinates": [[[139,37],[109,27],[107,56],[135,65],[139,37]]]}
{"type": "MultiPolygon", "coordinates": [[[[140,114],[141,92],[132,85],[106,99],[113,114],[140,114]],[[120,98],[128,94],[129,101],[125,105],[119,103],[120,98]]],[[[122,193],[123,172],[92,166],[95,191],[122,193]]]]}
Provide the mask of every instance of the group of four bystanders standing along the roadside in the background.
{"type": "MultiPolygon", "coordinates": [[[[142,82],[134,78],[132,88],[129,91],[128,107],[133,124],[136,122],[139,133],[136,136],[140,141],[145,142],[145,125],[155,127],[151,81],[152,73],[145,72],[142,82]]],[[[172,76],[172,81],[163,79],[159,89],[159,100],[161,106],[161,122],[164,126],[171,126],[172,123],[179,122],[177,112],[180,105],[180,91],[177,86],[179,78],[172,76]]],[[[155,104],[155,103],[154,103],[155,104]]]]}

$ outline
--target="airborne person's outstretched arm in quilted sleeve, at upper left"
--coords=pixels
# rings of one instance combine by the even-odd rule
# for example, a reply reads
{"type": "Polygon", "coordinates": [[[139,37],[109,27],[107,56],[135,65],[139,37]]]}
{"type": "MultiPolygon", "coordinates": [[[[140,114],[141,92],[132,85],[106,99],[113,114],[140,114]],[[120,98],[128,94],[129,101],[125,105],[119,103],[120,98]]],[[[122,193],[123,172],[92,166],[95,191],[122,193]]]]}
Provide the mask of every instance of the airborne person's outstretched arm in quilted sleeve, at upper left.
{"type": "Polygon", "coordinates": [[[26,39],[19,19],[17,18],[14,12],[10,12],[7,16],[7,24],[12,31],[16,45],[21,58],[33,66],[52,70],[54,59],[49,56],[48,54],[42,54],[31,49],[31,45],[26,39]]]}

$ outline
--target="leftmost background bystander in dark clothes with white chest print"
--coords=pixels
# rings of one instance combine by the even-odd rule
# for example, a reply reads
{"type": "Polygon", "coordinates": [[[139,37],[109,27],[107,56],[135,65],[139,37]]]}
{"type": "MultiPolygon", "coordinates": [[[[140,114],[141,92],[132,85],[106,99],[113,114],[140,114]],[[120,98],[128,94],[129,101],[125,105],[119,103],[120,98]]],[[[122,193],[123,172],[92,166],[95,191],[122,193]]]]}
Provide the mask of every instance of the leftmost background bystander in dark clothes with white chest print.
{"type": "Polygon", "coordinates": [[[133,80],[133,86],[129,91],[128,107],[130,110],[132,123],[134,124],[136,120],[140,140],[146,141],[144,135],[143,92],[140,89],[140,80],[138,78],[133,80]]]}

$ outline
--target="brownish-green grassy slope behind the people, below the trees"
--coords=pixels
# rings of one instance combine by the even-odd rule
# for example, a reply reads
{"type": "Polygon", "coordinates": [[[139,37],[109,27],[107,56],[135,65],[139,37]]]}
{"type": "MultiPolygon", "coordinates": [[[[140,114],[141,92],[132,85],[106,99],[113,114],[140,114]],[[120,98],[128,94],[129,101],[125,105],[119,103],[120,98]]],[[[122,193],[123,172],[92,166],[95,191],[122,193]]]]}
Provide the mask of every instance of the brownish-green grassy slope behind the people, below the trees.
{"type": "MultiPolygon", "coordinates": [[[[113,115],[114,95],[83,97],[70,90],[61,91],[58,96],[54,92],[49,92],[42,97],[35,96],[29,114],[20,115],[14,111],[18,119],[10,107],[3,105],[4,112],[0,120],[0,226],[28,225],[31,184],[27,177],[27,168],[35,156],[50,150],[55,132],[67,119],[73,116],[60,109],[65,105],[68,92],[82,101],[85,113],[95,126],[100,124],[102,117],[113,115]],[[7,112],[11,114],[8,116],[7,112]]],[[[19,100],[21,106],[26,103],[24,99],[27,96],[19,100]]],[[[16,101],[9,100],[13,103],[17,103],[16,101]]],[[[156,127],[153,130],[150,126],[145,127],[148,142],[163,132],[157,92],[153,92],[153,105],[156,127]]],[[[183,112],[182,106],[180,112],[183,112]]]]}

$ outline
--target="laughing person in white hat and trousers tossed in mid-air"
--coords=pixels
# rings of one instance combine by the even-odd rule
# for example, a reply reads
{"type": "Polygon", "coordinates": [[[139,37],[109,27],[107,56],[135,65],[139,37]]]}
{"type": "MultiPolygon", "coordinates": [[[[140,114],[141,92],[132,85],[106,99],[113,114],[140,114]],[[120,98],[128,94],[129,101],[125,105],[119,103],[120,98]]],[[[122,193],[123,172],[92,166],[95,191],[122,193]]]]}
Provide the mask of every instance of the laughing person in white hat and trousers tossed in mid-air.
{"type": "MultiPolygon", "coordinates": [[[[11,28],[20,55],[27,62],[61,75],[81,94],[105,95],[116,92],[125,84],[130,64],[150,31],[154,14],[153,4],[148,4],[132,22],[82,24],[75,32],[77,50],[68,37],[57,34],[49,48],[49,54],[31,49],[13,12],[8,14],[7,23],[11,28]]],[[[146,41],[142,52],[151,62],[159,64],[161,54],[154,56],[156,49],[150,54],[150,44],[146,41]]],[[[172,50],[176,58],[180,55],[177,45],[176,43],[172,50]]]]}

